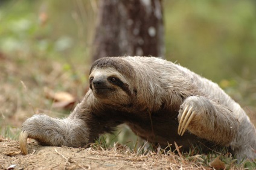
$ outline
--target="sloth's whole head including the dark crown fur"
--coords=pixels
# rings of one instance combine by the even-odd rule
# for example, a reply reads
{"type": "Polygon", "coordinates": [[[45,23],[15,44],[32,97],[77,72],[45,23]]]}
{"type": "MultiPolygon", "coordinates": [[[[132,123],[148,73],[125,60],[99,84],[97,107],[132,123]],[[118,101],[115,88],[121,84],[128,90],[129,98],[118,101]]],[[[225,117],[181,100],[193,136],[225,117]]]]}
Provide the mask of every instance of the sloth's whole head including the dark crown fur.
{"type": "Polygon", "coordinates": [[[119,57],[104,57],[92,65],[90,88],[104,104],[127,106],[132,104],[136,95],[132,83],[133,67],[119,57]]]}

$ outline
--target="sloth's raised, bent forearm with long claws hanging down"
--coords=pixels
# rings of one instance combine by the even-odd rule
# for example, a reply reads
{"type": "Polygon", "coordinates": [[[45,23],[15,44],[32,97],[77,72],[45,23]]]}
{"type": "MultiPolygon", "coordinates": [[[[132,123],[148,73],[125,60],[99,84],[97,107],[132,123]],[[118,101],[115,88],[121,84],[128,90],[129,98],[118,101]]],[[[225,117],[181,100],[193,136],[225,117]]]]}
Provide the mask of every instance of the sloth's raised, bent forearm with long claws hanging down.
{"type": "Polygon", "coordinates": [[[219,145],[228,145],[237,134],[239,122],[224,105],[203,96],[190,96],[179,110],[178,134],[186,130],[219,145]]]}

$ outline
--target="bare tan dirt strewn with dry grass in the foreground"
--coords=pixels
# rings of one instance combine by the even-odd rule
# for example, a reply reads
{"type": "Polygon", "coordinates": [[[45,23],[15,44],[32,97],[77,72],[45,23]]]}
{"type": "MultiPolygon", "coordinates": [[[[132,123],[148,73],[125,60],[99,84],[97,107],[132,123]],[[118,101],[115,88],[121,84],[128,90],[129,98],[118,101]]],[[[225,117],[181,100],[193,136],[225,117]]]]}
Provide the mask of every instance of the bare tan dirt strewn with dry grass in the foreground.
{"type": "Polygon", "coordinates": [[[28,142],[28,155],[19,142],[0,139],[0,169],[211,169],[175,154],[136,154],[129,148],[110,149],[41,146],[28,142]],[[12,168],[14,167],[14,168],[12,168]]]}

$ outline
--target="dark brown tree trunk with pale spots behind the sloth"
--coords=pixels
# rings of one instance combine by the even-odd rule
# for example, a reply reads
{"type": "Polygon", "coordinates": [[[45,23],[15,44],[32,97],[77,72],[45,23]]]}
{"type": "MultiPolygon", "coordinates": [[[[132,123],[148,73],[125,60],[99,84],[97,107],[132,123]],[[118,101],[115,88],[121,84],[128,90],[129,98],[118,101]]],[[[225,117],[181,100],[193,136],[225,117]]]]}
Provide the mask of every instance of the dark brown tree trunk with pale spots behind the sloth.
{"type": "Polygon", "coordinates": [[[161,0],[101,0],[93,59],[106,56],[164,57],[161,0]]]}

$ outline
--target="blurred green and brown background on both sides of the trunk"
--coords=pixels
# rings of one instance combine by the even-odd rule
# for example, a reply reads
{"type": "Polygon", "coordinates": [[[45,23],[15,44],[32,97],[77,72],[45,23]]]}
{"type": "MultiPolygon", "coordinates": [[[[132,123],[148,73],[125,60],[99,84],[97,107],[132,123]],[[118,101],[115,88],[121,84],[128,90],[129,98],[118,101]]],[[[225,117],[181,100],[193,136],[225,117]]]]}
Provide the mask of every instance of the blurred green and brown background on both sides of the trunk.
{"type": "MultiPolygon", "coordinates": [[[[256,122],[256,2],[162,1],[165,58],[218,83],[256,122]]],[[[0,134],[67,116],[88,89],[98,1],[0,1],[0,134]]]]}

